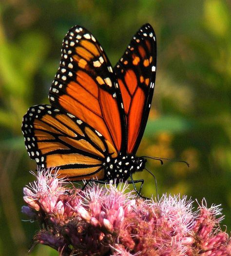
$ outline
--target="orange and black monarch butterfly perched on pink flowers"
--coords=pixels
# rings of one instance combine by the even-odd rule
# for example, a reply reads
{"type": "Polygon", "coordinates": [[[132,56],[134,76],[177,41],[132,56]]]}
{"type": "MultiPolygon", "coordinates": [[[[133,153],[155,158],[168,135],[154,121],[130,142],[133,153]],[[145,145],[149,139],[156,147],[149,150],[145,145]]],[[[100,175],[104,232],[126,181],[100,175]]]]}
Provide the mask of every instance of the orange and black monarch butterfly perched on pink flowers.
{"type": "Polygon", "coordinates": [[[29,108],[25,146],[41,168],[68,180],[127,180],[145,168],[135,156],[154,93],[156,38],[150,24],[135,34],[115,67],[81,26],[63,39],[50,105],[29,108]]]}

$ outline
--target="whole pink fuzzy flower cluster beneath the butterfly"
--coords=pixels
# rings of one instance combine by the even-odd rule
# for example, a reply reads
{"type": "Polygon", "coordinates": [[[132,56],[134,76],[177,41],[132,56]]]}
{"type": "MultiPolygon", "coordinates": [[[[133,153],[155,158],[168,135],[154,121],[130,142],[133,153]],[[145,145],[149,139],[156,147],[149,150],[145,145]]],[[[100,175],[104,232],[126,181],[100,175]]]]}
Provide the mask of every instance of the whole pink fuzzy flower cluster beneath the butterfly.
{"type": "Polygon", "coordinates": [[[68,187],[51,172],[38,172],[24,188],[22,212],[37,220],[35,243],[60,256],[229,256],[231,239],[222,232],[217,206],[205,201],[193,212],[186,197],[143,200],[119,188],[94,184],[68,187]]]}

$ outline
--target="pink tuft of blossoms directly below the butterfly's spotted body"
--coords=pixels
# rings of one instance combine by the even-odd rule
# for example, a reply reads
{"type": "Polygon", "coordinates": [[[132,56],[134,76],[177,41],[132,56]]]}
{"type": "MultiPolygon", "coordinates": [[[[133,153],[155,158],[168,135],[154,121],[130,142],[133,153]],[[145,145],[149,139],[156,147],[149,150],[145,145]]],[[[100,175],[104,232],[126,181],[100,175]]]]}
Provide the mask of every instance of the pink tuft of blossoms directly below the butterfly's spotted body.
{"type": "Polygon", "coordinates": [[[77,206],[76,212],[87,222],[109,233],[115,232],[123,224],[126,206],[134,198],[131,193],[124,194],[126,188],[126,183],[120,184],[120,190],[113,183],[109,188],[87,187],[82,195],[82,206],[77,206]]]}

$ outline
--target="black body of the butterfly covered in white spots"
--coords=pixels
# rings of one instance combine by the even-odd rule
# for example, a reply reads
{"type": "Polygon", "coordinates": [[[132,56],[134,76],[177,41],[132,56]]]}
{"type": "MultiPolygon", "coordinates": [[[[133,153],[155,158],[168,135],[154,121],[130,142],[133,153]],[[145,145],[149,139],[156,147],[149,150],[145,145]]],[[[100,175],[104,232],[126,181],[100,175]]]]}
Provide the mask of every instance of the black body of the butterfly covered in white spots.
{"type": "Polygon", "coordinates": [[[131,174],[142,171],[145,167],[146,159],[135,155],[118,155],[116,158],[110,156],[105,158],[105,179],[127,180],[131,174]]]}

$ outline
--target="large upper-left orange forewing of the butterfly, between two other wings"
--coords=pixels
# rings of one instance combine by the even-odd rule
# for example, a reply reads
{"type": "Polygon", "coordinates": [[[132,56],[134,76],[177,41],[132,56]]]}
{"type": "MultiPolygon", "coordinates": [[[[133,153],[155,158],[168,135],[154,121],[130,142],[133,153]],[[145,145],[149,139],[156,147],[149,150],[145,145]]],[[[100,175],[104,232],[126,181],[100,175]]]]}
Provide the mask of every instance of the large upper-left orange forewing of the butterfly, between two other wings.
{"type": "Polygon", "coordinates": [[[75,26],[63,40],[60,67],[52,83],[51,105],[80,118],[117,150],[126,148],[126,123],[115,74],[102,47],[75,26]]]}

